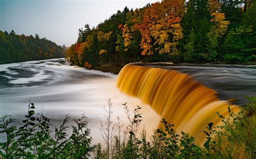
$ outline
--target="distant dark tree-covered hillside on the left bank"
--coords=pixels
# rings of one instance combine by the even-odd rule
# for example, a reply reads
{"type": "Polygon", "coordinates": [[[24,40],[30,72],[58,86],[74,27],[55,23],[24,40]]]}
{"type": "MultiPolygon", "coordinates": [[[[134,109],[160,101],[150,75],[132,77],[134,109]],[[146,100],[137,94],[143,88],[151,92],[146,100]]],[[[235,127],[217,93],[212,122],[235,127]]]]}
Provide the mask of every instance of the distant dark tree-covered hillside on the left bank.
{"type": "Polygon", "coordinates": [[[0,64],[45,60],[65,56],[65,47],[61,47],[46,38],[39,38],[36,34],[17,35],[15,31],[0,31],[0,64]]]}

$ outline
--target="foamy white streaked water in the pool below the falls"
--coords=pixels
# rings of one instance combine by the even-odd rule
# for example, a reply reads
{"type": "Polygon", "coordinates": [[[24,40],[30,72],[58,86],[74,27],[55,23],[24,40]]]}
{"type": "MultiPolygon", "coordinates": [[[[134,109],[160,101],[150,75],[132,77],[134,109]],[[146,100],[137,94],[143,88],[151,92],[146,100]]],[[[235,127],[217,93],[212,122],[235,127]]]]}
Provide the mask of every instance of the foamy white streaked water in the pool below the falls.
{"type": "Polygon", "coordinates": [[[144,124],[152,131],[160,117],[139,99],[121,93],[116,87],[116,78],[114,74],[69,66],[64,59],[2,64],[0,116],[12,115],[17,119],[16,125],[21,124],[18,121],[24,120],[31,97],[36,112],[43,109],[43,113],[51,119],[52,127],[58,127],[66,114],[79,118],[85,113],[93,143],[98,143],[103,142],[98,118],[104,121],[106,112],[103,107],[111,98],[114,111],[112,120],[116,122],[119,116],[120,121],[127,125],[122,104],[127,102],[131,112],[136,105],[140,105],[143,107],[144,124]]]}

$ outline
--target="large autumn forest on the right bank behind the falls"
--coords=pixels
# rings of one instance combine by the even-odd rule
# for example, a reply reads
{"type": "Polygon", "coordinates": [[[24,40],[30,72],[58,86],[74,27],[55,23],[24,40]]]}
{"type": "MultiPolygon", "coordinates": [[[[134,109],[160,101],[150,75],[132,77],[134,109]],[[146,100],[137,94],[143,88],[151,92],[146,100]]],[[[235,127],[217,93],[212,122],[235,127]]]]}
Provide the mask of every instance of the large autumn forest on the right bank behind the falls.
{"type": "Polygon", "coordinates": [[[130,62],[254,64],[255,14],[254,1],[165,0],[125,8],[97,27],[80,28],[66,57],[112,72],[130,62]]]}

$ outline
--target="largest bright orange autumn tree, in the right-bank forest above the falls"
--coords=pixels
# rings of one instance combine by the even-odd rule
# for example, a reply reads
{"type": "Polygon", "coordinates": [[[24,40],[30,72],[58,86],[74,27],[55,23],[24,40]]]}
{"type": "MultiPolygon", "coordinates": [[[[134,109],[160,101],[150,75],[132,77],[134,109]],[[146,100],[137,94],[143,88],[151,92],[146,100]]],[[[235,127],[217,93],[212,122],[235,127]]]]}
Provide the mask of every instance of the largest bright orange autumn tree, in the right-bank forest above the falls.
{"type": "Polygon", "coordinates": [[[183,12],[181,0],[165,0],[145,9],[143,20],[135,25],[142,34],[142,55],[151,55],[154,49],[159,53],[178,52],[178,41],[183,38],[180,26],[183,12]]]}

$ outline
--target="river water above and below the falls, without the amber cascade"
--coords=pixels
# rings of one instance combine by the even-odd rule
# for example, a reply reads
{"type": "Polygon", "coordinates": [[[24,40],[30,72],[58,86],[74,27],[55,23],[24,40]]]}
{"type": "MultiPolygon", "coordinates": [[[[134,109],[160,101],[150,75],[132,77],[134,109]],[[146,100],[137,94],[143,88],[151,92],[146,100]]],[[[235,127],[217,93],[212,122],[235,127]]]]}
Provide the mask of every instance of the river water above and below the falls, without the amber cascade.
{"type": "MultiPolygon", "coordinates": [[[[235,104],[243,105],[242,95],[256,94],[256,66],[228,64],[142,64],[147,67],[161,67],[178,70],[192,76],[196,81],[218,92],[221,100],[237,99],[235,104]]],[[[139,99],[121,93],[116,87],[117,75],[70,66],[64,59],[28,61],[0,65],[0,115],[12,115],[21,121],[28,109],[29,100],[35,103],[36,112],[43,110],[57,127],[66,114],[73,118],[85,113],[91,128],[93,143],[103,142],[100,136],[100,122],[106,114],[103,106],[111,98],[112,119],[120,117],[128,124],[123,110],[127,102],[130,110],[136,105],[142,107],[143,125],[152,134],[160,117],[150,106],[139,99]]],[[[143,126],[141,126],[143,127],[143,126]]],[[[3,136],[2,136],[3,138],[3,136]]]]}

